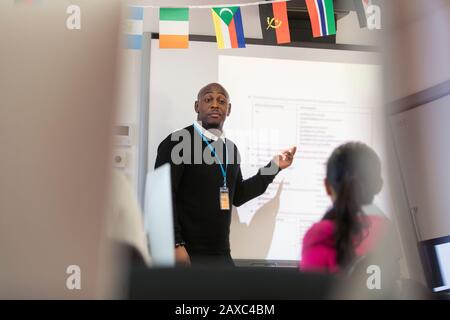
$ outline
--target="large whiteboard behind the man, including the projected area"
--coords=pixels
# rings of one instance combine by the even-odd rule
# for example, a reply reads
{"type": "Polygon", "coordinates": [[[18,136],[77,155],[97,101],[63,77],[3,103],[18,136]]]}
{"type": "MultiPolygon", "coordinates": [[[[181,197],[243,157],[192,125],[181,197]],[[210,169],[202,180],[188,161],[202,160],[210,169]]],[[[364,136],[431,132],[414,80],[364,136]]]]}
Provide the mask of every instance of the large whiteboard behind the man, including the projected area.
{"type": "Polygon", "coordinates": [[[360,140],[383,152],[384,130],[377,113],[380,61],[375,52],[261,45],[218,50],[214,42],[202,41],[191,41],[188,50],[161,50],[158,40],[151,40],[149,59],[150,170],[159,143],[193,122],[198,90],[210,82],[221,82],[230,93],[232,113],[225,130],[244,158],[251,160],[242,165],[244,178],[270,160],[268,154],[261,159],[251,156],[251,148],[268,141],[264,135],[262,140],[251,139],[255,132],[288,128],[278,131],[286,138],[271,145],[271,151],[298,144],[295,168],[280,173],[263,196],[233,208],[231,254],[236,259],[298,260],[305,230],[321,219],[330,204],[319,183],[331,150],[345,141],[360,140]],[[281,105],[283,112],[274,111],[271,105],[281,105]],[[295,115],[299,112],[313,131],[320,130],[320,121],[314,119],[322,114],[326,116],[322,124],[340,121],[321,133],[321,139],[332,134],[332,143],[320,150],[305,147],[306,135],[311,132],[304,132],[303,140],[298,137],[298,130],[305,126],[282,125],[298,119],[295,115]],[[248,121],[253,133],[247,130],[248,121]],[[271,129],[263,130],[268,127],[271,129]],[[308,171],[312,162],[314,170],[308,171]],[[301,181],[300,185],[293,185],[294,180],[301,181]],[[288,207],[289,212],[280,212],[288,207]]]}

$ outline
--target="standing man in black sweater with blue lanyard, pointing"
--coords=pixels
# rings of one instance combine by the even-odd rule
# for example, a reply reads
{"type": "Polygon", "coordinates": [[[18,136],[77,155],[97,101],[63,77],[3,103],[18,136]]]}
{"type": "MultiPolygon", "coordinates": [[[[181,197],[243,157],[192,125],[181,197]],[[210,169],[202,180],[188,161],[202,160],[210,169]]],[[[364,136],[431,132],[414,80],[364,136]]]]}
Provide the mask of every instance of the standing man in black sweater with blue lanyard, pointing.
{"type": "Polygon", "coordinates": [[[238,149],[222,130],[231,112],[227,91],[208,84],[194,109],[197,121],[164,139],[155,163],[155,168],[171,164],[175,258],[178,264],[232,266],[231,205],[263,194],[276,174],[292,164],[296,148],[276,155],[244,180],[238,149]]]}

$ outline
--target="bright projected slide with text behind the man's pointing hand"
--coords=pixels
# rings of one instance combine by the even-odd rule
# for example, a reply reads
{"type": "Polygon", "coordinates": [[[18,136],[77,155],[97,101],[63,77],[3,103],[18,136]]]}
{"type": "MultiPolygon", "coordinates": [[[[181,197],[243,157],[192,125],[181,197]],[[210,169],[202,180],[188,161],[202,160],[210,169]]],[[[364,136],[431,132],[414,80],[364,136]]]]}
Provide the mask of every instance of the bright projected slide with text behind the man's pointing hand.
{"type": "Polygon", "coordinates": [[[379,75],[375,65],[219,57],[232,103],[226,133],[244,178],[298,147],[264,195],[234,208],[234,258],[299,260],[305,231],[331,205],[323,179],[332,150],[352,140],[380,149],[379,75]]]}

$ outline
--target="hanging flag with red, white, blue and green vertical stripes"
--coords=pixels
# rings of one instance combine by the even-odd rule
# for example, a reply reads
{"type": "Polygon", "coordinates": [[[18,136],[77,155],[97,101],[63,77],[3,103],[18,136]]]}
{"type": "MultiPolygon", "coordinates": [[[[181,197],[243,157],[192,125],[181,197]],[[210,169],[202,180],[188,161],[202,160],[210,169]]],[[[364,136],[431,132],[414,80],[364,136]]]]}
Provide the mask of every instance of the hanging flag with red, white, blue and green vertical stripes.
{"type": "Polygon", "coordinates": [[[333,0],[306,0],[313,37],[336,34],[333,0]]]}

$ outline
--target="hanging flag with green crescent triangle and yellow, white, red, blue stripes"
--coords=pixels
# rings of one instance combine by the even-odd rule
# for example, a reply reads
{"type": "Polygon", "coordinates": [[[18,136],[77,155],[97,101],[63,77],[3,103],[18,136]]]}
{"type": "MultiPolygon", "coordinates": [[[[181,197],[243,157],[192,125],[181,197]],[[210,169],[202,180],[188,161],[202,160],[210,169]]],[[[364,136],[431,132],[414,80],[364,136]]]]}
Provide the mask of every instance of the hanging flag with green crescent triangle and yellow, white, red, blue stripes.
{"type": "Polygon", "coordinates": [[[217,47],[219,49],[245,48],[241,8],[217,7],[212,8],[211,13],[216,30],[217,47]]]}

